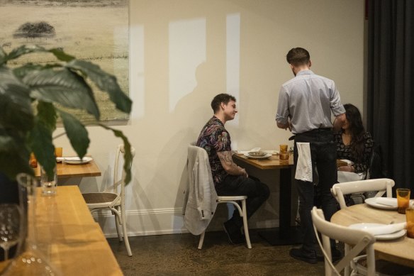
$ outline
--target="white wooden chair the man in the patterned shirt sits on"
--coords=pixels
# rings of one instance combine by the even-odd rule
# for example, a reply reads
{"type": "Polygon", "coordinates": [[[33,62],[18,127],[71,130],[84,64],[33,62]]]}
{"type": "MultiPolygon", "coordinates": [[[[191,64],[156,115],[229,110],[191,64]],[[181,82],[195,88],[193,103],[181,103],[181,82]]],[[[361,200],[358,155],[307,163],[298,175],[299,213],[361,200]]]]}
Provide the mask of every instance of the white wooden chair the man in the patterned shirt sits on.
{"type": "MultiPolygon", "coordinates": [[[[210,167],[210,163],[208,162],[208,154],[207,154],[206,150],[204,150],[203,148],[197,147],[196,145],[194,145],[194,143],[189,145],[188,150],[189,150],[189,157],[190,157],[190,155],[195,154],[195,155],[198,155],[199,160],[207,160],[205,162],[206,167],[203,167],[203,170],[208,171],[209,175],[203,181],[205,181],[205,185],[207,185],[207,187],[210,187],[213,184],[209,184],[208,182],[212,181],[213,177],[211,176],[211,167],[210,167]]],[[[188,158],[187,162],[197,162],[196,160],[197,160],[197,158],[188,158]]],[[[195,166],[195,164],[189,164],[188,163],[187,164],[187,170],[188,170],[187,173],[188,173],[188,175],[193,174],[194,173],[193,170],[196,167],[198,167],[198,166],[195,166]]],[[[195,172],[195,173],[198,176],[201,175],[201,172],[195,172]]],[[[194,181],[194,178],[192,178],[192,177],[189,177],[189,189],[197,189],[196,188],[196,182],[194,181]]],[[[230,204],[233,204],[235,206],[235,209],[237,209],[239,211],[239,214],[243,219],[243,228],[244,228],[244,231],[245,231],[245,238],[246,238],[247,248],[252,248],[252,244],[250,243],[249,228],[248,228],[248,225],[247,225],[247,211],[246,211],[247,196],[220,197],[220,196],[217,196],[216,190],[213,190],[211,192],[215,195],[217,204],[230,203],[230,204]],[[241,202],[241,207],[240,207],[240,204],[238,204],[237,202],[241,202]]],[[[196,194],[198,195],[198,193],[196,193],[196,194]]],[[[198,249],[203,248],[203,241],[204,241],[204,237],[206,235],[206,230],[205,229],[207,228],[209,222],[210,221],[206,221],[205,223],[201,223],[201,224],[204,224],[204,226],[203,226],[204,231],[201,232],[200,240],[198,242],[198,249]]],[[[187,223],[187,222],[185,222],[185,223],[187,223]]],[[[191,224],[191,222],[189,222],[189,223],[191,224]]]]}

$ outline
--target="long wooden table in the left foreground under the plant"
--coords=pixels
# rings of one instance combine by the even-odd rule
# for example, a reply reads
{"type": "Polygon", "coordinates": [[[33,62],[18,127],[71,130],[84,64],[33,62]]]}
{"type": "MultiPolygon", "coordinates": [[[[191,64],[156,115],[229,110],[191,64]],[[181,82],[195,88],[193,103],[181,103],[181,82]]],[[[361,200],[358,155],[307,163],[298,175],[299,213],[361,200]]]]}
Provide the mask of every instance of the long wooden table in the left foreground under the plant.
{"type": "Polygon", "coordinates": [[[62,275],[123,275],[77,186],[57,187],[55,197],[38,188],[36,200],[38,249],[62,275]]]}

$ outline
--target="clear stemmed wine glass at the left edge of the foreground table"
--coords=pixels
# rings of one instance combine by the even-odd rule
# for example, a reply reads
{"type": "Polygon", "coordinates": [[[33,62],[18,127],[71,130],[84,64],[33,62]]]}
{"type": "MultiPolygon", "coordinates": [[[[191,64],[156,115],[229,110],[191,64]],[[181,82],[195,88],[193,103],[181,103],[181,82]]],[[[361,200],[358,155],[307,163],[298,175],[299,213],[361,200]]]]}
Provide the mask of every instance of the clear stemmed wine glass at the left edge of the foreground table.
{"type": "Polygon", "coordinates": [[[9,249],[20,240],[21,209],[17,204],[0,204],[0,247],[4,260],[9,259],[9,249]]]}

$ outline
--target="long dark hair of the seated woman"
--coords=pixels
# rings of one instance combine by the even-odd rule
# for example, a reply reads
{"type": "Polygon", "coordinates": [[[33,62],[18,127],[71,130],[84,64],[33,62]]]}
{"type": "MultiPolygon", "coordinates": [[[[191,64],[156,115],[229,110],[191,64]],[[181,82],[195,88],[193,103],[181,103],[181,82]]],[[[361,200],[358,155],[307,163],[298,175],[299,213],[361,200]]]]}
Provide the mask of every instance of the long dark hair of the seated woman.
{"type": "Polygon", "coordinates": [[[351,151],[357,156],[359,162],[364,156],[364,132],[365,128],[362,124],[361,113],[357,106],[353,104],[344,104],[347,120],[349,123],[349,131],[351,131],[351,151]]]}

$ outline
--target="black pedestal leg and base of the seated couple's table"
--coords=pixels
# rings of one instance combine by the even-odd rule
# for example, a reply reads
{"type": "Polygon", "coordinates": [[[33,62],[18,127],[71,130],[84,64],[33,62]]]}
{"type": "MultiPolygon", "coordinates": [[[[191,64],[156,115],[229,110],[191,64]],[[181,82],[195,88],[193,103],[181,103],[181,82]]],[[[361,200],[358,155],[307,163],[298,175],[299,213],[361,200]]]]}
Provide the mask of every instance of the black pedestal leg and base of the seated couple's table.
{"type": "Polygon", "coordinates": [[[279,190],[279,228],[269,228],[260,231],[259,236],[271,245],[293,245],[302,243],[300,228],[291,226],[291,194],[292,177],[291,169],[280,170],[279,190]]]}

